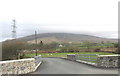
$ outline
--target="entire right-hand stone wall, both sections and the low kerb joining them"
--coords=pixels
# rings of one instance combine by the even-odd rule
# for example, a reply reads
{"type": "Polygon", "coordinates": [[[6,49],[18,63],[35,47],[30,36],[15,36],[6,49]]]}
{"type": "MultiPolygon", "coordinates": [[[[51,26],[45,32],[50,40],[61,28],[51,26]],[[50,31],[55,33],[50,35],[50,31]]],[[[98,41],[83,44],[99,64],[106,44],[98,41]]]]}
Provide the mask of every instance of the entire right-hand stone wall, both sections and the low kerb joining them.
{"type": "Polygon", "coordinates": [[[68,54],[67,59],[74,60],[81,63],[95,65],[97,67],[120,67],[120,55],[97,55],[96,63],[90,63],[88,61],[78,60],[77,55],[68,54]]]}

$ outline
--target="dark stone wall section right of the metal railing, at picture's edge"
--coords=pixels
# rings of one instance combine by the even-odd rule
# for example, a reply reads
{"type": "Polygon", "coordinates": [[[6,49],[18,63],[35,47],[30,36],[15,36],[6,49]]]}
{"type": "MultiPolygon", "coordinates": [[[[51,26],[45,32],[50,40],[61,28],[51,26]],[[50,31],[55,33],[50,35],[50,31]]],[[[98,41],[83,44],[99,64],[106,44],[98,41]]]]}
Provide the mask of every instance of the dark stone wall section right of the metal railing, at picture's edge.
{"type": "Polygon", "coordinates": [[[98,55],[98,67],[120,67],[120,55],[98,55]]]}

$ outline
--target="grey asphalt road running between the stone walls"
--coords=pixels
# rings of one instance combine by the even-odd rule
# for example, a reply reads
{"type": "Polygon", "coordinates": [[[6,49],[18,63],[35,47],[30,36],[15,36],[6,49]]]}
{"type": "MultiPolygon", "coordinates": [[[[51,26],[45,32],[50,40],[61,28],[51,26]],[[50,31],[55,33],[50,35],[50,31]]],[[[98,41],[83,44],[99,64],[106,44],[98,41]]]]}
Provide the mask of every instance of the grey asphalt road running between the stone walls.
{"type": "Polygon", "coordinates": [[[31,74],[118,74],[118,69],[103,69],[60,58],[43,58],[43,63],[31,74]]]}

